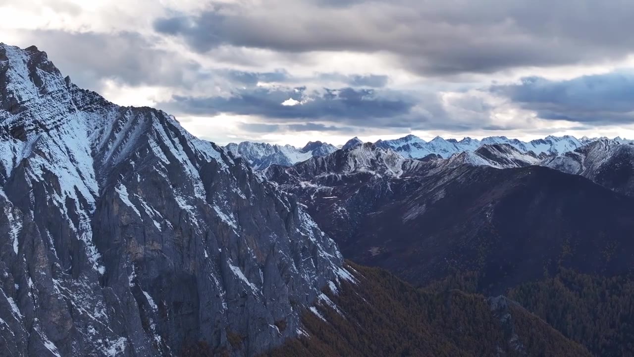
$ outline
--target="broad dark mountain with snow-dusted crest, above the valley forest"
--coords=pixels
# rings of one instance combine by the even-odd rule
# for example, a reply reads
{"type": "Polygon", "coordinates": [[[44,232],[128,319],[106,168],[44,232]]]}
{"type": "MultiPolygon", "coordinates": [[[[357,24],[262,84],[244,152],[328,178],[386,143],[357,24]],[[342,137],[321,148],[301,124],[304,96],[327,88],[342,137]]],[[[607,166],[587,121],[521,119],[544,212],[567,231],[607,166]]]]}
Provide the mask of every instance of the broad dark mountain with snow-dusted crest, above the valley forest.
{"type": "Polygon", "coordinates": [[[486,277],[479,288],[505,292],[555,269],[567,239],[575,247],[562,266],[629,271],[634,200],[538,161],[510,144],[419,160],[366,143],[264,175],[307,206],[345,257],[416,286],[475,269],[486,277]],[[596,252],[616,240],[623,249],[606,263],[596,252]]]}

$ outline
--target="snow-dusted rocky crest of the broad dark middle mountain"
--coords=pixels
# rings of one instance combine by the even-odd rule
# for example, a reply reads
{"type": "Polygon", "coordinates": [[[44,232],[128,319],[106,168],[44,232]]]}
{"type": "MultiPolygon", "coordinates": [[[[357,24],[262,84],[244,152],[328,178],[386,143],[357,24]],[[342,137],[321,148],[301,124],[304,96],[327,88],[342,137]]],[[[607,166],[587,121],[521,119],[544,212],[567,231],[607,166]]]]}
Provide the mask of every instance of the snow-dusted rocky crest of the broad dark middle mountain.
{"type": "Polygon", "coordinates": [[[354,189],[359,184],[389,179],[430,177],[460,166],[520,168],[537,165],[540,159],[533,152],[521,152],[509,144],[486,144],[475,151],[456,152],[448,159],[436,154],[411,159],[403,158],[390,148],[366,142],[290,167],[271,165],[262,175],[280,184],[285,191],[312,201],[317,197],[334,198],[337,196],[334,192],[347,190],[348,186],[354,189]]]}

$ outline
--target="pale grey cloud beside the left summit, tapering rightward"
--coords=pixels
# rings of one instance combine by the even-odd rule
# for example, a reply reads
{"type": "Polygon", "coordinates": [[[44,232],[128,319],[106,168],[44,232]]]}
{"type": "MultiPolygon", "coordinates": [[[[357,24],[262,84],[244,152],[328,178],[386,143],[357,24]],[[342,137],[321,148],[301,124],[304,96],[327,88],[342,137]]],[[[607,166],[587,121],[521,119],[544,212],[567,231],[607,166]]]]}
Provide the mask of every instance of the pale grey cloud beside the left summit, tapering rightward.
{"type": "MultiPolygon", "coordinates": [[[[231,68],[207,70],[179,53],[162,50],[157,45],[157,39],[133,32],[104,34],[35,30],[25,33],[25,46],[36,44],[48,51],[49,58],[60,71],[72,74],[74,83],[91,90],[100,90],[103,79],[115,79],[130,86],[146,84],[172,88],[191,88],[202,81],[209,81],[219,84],[223,90],[231,90],[234,87],[256,86],[257,83],[314,83],[326,78],[321,74],[294,77],[285,69],[270,72],[231,68]]],[[[351,86],[378,87],[387,83],[387,77],[375,74],[330,76],[351,86]]]]}

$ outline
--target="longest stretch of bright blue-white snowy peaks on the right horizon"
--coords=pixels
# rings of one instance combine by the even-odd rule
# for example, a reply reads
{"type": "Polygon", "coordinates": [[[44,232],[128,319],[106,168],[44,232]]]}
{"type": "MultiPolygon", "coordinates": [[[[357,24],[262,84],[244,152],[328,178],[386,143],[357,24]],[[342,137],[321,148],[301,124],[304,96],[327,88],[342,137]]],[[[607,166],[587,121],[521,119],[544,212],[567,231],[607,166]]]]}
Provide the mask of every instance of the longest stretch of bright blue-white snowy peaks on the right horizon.
{"type": "Polygon", "coordinates": [[[509,144],[522,152],[532,151],[534,154],[562,154],[573,151],[583,145],[579,140],[569,135],[563,137],[548,136],[543,139],[522,142],[517,139],[507,137],[486,137],[482,140],[473,138],[444,139],[435,137],[426,142],[415,135],[408,135],[395,140],[378,140],[376,143],[380,147],[389,147],[406,158],[424,158],[429,154],[437,154],[443,158],[449,158],[456,152],[475,151],[486,144],[509,144]]]}

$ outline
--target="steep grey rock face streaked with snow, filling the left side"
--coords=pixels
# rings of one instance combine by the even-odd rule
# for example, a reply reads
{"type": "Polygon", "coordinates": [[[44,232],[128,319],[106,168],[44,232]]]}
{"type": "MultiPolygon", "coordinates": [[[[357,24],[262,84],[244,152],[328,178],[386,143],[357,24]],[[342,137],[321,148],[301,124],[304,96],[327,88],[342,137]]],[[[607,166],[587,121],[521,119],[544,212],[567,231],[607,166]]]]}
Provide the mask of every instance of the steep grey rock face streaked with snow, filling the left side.
{"type": "Polygon", "coordinates": [[[242,159],[5,44],[0,246],[8,356],[169,356],[198,341],[250,356],[297,335],[345,273],[333,241],[242,159]]]}

